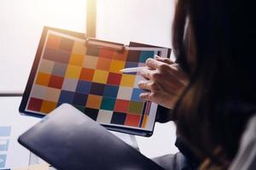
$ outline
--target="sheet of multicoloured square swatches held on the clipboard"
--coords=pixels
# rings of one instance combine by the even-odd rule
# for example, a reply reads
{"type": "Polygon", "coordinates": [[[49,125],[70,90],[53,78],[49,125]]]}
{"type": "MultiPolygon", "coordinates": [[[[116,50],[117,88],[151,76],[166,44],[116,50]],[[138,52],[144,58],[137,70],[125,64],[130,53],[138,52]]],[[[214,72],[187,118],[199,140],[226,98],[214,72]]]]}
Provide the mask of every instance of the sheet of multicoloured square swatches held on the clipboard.
{"type": "Polygon", "coordinates": [[[26,111],[46,115],[68,103],[96,122],[152,130],[157,105],[139,99],[137,73],[119,70],[144,66],[166,48],[125,47],[123,51],[86,46],[85,40],[47,31],[26,111]]]}

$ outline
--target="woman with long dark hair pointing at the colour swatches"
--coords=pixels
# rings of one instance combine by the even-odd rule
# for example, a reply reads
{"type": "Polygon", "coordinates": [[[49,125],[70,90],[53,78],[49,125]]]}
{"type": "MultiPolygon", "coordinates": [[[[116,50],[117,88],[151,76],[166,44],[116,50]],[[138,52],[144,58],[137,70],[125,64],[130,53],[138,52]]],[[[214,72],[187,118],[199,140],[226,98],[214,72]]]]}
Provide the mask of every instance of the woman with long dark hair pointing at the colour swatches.
{"type": "Polygon", "coordinates": [[[177,64],[156,57],[140,74],[141,99],[168,109],[177,123],[170,169],[226,169],[241,133],[256,113],[253,4],[227,0],[178,0],[172,45],[177,64]]]}

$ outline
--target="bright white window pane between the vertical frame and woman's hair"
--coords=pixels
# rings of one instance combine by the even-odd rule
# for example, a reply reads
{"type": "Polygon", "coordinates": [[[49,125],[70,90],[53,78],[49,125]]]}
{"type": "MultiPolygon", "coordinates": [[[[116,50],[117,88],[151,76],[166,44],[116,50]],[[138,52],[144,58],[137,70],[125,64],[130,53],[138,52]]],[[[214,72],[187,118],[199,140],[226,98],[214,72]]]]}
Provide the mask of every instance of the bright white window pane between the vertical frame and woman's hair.
{"type": "Polygon", "coordinates": [[[174,0],[98,0],[96,35],[171,47],[174,0]]]}

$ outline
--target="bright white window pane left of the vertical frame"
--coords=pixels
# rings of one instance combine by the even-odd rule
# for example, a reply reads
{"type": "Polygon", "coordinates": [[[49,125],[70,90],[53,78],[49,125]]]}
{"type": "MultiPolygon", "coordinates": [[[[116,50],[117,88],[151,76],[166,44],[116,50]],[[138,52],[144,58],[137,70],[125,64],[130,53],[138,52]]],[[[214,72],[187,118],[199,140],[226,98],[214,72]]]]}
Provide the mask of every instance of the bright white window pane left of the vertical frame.
{"type": "Polygon", "coordinates": [[[0,93],[23,92],[44,26],[85,30],[86,0],[0,1],[0,93]]]}

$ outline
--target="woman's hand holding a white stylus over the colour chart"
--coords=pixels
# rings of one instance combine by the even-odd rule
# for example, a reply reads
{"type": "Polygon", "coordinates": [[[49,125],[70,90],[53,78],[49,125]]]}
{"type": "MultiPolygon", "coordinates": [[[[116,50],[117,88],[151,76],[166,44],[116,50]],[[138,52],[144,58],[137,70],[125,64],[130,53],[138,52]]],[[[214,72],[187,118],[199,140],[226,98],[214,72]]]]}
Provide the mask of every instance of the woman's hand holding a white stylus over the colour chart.
{"type": "Polygon", "coordinates": [[[146,90],[140,98],[172,109],[187,86],[188,77],[170,59],[156,56],[147,59],[146,65],[148,69],[138,72],[146,79],[138,82],[138,87],[146,90]]]}

